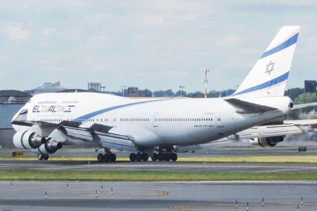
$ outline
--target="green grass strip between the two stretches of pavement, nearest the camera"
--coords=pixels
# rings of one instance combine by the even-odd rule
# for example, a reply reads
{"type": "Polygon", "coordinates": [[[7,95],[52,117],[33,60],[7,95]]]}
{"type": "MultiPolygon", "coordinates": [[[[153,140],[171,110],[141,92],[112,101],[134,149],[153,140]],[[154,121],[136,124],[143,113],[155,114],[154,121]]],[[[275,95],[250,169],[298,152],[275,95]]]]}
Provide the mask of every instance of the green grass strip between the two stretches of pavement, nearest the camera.
{"type": "Polygon", "coordinates": [[[178,171],[74,171],[0,170],[0,180],[59,181],[222,181],[222,180],[317,180],[317,172],[178,172],[178,171]]]}

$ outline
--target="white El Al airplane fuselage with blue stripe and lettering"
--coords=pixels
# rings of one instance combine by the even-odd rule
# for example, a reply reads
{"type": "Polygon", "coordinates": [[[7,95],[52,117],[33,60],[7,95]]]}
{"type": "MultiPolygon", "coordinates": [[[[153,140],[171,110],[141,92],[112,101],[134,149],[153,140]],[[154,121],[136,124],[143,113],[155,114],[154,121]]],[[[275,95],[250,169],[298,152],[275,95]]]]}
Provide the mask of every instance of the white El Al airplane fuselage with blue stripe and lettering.
{"type": "MultiPolygon", "coordinates": [[[[58,124],[68,120],[81,122],[83,128],[94,123],[112,126],[110,133],[133,137],[136,146],[157,147],[211,142],[285,115],[291,109],[288,97],[244,100],[278,109],[241,114],[222,98],[129,99],[97,93],[50,93],[34,96],[21,110],[28,109],[28,121],[58,124]]],[[[30,129],[12,126],[17,131],[30,129]]]]}

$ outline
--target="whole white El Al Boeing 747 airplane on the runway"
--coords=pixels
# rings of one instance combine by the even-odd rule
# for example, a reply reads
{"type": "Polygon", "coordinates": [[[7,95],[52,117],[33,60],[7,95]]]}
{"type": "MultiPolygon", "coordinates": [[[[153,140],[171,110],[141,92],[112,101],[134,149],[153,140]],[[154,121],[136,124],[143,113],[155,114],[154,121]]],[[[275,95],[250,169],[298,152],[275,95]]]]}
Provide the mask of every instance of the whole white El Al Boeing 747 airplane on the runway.
{"type": "MultiPolygon", "coordinates": [[[[48,93],[32,97],[15,114],[13,143],[48,159],[63,145],[105,149],[98,161],[115,161],[110,149],[132,152],[131,161],[173,160],[177,152],[206,143],[247,138],[255,146],[275,146],[295,126],[259,126],[292,109],[283,97],[299,34],[284,26],[231,96],[209,99],[129,99],[98,93],[48,93]]],[[[294,124],[295,123],[295,124],[294,124]]],[[[97,150],[96,150],[97,152],[97,150]]]]}

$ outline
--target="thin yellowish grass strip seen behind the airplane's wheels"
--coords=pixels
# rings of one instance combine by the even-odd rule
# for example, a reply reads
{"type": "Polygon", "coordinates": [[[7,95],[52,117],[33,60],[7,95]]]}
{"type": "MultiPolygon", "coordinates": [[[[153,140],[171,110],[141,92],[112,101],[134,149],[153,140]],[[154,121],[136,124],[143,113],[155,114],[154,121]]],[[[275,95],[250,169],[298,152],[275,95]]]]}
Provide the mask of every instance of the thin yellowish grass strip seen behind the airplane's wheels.
{"type": "MultiPolygon", "coordinates": [[[[37,160],[36,156],[21,156],[10,157],[0,156],[0,160],[37,160]]],[[[96,156],[50,156],[50,160],[97,160],[96,156]]],[[[151,160],[151,158],[150,158],[151,160]]],[[[128,157],[119,157],[117,161],[129,161],[128,157]]],[[[181,157],[179,156],[177,161],[199,161],[199,162],[317,162],[317,156],[303,156],[303,155],[291,155],[291,156],[243,156],[243,157],[181,157]]]]}

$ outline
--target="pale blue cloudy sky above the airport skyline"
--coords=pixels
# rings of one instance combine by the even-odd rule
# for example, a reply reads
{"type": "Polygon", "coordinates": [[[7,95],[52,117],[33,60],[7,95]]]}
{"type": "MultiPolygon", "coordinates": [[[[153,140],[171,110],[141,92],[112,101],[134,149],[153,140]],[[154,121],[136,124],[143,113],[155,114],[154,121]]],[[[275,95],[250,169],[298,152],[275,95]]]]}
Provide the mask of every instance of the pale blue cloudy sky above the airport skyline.
{"type": "Polygon", "coordinates": [[[240,85],[284,25],[300,25],[287,87],[317,80],[312,0],[0,1],[0,89],[60,81],[152,91],[240,85]],[[214,15],[209,17],[209,15],[214,15]]]}

